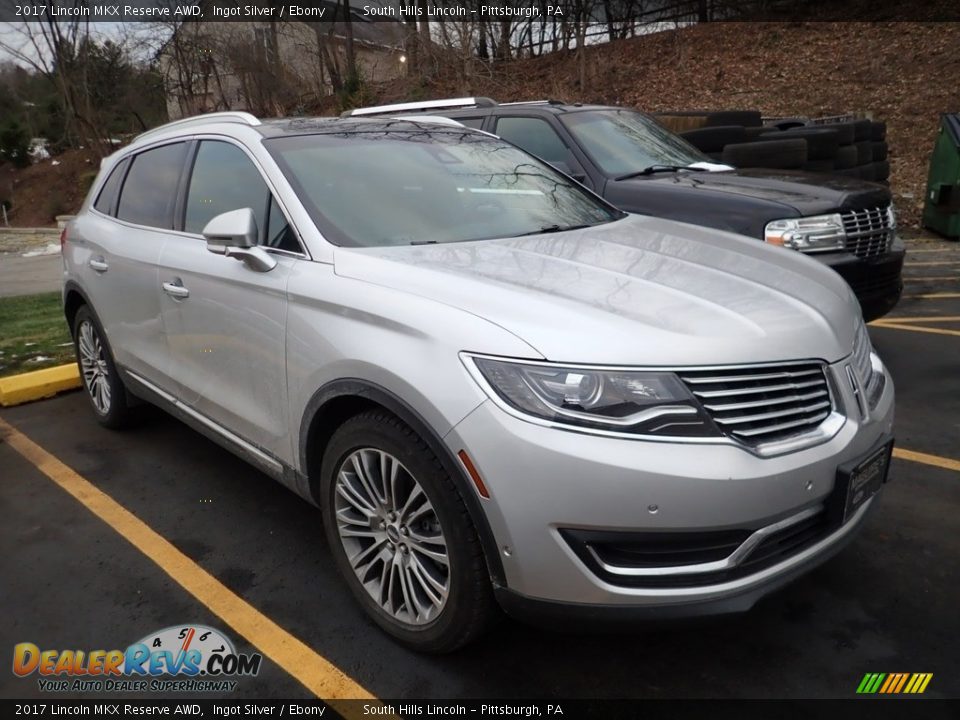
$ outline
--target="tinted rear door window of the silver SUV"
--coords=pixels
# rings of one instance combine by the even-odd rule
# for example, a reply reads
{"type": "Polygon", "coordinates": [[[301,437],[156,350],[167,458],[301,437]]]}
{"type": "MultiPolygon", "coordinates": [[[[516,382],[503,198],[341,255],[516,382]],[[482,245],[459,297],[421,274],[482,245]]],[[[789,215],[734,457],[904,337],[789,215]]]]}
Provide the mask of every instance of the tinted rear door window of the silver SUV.
{"type": "Polygon", "coordinates": [[[176,143],[134,157],[123,183],[117,217],[138,225],[172,228],[177,183],[186,155],[186,144],[176,143]]]}

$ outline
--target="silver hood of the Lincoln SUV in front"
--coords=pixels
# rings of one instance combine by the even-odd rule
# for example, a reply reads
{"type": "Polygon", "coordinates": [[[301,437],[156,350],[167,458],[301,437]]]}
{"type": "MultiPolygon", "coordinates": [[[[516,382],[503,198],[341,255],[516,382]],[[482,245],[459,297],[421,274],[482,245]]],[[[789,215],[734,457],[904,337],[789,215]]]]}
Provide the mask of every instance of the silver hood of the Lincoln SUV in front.
{"type": "Polygon", "coordinates": [[[859,318],[846,283],[814,260],[656,218],[503,240],[338,248],[334,262],[338,275],[459,308],[571,363],[834,362],[850,354],[859,318]]]}

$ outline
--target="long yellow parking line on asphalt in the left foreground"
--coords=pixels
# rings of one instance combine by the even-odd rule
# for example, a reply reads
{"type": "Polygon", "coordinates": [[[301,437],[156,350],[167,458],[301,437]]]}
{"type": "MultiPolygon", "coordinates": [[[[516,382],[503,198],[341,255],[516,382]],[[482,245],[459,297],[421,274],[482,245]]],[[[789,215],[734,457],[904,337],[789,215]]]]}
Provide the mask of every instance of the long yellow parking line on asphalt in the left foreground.
{"type": "Polygon", "coordinates": [[[116,500],[3,420],[0,439],[317,697],[376,700],[366,688],[236,595],[116,500]]]}

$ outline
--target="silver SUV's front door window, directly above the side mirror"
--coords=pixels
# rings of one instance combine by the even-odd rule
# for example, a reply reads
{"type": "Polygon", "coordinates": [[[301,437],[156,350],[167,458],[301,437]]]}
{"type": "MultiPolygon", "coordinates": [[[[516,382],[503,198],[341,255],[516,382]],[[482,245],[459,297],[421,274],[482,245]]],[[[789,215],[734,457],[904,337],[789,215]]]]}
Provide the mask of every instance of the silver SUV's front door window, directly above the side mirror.
{"type": "Polygon", "coordinates": [[[269,201],[267,184],[243,150],[230,143],[204,140],[190,176],[183,229],[202,233],[217,215],[250,208],[262,233],[269,201]]]}

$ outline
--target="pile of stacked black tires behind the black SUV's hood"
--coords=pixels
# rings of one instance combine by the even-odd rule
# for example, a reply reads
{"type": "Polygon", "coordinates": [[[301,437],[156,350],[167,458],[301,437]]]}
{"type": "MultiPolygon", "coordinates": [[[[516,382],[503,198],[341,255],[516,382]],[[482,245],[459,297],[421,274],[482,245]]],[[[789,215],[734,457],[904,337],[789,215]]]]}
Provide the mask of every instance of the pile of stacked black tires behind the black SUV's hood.
{"type": "MultiPolygon", "coordinates": [[[[742,113],[714,113],[741,119],[742,113]]],[[[887,126],[854,120],[830,124],[800,124],[799,119],[776,126],[707,125],[679,134],[712,159],[739,168],[771,168],[843,175],[886,183],[887,126]]]]}

